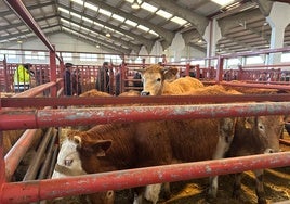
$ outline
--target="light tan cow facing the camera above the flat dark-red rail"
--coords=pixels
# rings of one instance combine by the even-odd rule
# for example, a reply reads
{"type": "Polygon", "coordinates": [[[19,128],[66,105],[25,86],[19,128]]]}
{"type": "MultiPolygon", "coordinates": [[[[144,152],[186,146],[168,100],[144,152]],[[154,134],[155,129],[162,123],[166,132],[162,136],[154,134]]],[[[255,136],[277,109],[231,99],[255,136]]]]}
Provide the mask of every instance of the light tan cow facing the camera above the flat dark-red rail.
{"type": "Polygon", "coordinates": [[[171,67],[164,68],[158,64],[147,66],[140,72],[143,80],[142,95],[179,94],[203,87],[200,80],[188,76],[170,82],[166,80],[166,77],[170,75],[170,72],[175,72],[175,69],[171,67]]]}

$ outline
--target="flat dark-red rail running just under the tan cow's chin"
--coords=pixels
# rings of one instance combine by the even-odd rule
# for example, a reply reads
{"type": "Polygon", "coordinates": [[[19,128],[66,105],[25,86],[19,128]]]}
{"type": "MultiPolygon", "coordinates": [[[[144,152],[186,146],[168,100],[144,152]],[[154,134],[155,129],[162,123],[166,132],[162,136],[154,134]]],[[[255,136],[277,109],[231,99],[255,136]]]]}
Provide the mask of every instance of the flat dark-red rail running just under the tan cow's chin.
{"type": "Polygon", "coordinates": [[[163,97],[79,97],[79,98],[2,98],[2,107],[25,106],[70,106],[70,105],[106,105],[106,104],[194,104],[248,101],[290,101],[290,94],[238,94],[238,95],[163,95],[163,97]],[[32,105],[31,105],[32,104],[32,105]]]}

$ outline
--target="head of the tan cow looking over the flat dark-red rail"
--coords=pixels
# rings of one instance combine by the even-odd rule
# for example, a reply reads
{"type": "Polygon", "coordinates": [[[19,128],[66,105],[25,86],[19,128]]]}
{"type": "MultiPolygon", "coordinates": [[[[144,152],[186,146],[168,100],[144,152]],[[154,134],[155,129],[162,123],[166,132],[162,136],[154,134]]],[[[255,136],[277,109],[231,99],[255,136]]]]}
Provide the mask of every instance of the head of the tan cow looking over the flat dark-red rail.
{"type": "Polygon", "coordinates": [[[160,95],[164,80],[172,80],[177,74],[176,68],[150,65],[141,71],[143,80],[142,95],[160,95]]]}

